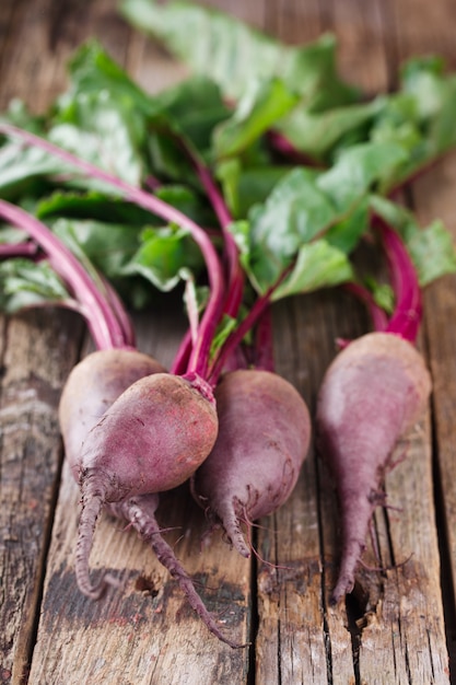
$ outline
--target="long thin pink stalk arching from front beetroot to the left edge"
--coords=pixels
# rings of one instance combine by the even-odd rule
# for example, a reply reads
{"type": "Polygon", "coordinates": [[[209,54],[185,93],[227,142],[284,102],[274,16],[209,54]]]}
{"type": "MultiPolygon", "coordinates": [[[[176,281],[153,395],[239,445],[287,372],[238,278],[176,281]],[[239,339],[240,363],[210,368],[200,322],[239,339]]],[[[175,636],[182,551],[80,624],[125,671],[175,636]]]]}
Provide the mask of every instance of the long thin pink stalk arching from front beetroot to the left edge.
{"type": "Polygon", "coordinates": [[[0,124],[0,133],[20,137],[27,146],[42,148],[49,154],[52,154],[66,163],[75,166],[87,175],[104,181],[128,201],[135,202],[143,209],[156,214],[161,219],[169,223],[176,223],[190,232],[204,258],[211,294],[208,306],[201,317],[198,340],[191,350],[187,373],[196,373],[197,375],[204,378],[208,371],[211,341],[219,322],[221,309],[223,306],[224,294],[223,274],[219,257],[206,232],[178,209],[175,209],[154,195],[132,186],[126,181],[122,181],[109,172],[106,172],[103,169],[75,156],[71,152],[55,146],[39,136],[35,136],[30,131],[23,130],[10,124],[0,124]]]}

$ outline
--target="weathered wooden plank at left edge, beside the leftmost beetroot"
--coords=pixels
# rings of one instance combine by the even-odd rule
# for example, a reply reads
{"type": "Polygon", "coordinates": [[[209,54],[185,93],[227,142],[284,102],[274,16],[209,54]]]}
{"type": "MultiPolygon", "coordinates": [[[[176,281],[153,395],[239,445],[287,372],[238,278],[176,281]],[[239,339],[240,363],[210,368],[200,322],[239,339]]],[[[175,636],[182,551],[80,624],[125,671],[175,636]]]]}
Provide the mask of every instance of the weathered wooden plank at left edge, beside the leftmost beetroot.
{"type": "Polygon", "coordinates": [[[0,677],[4,683],[25,678],[33,649],[61,463],[57,404],[77,355],[80,328],[74,323],[67,316],[57,318],[54,312],[2,323],[0,677]]]}

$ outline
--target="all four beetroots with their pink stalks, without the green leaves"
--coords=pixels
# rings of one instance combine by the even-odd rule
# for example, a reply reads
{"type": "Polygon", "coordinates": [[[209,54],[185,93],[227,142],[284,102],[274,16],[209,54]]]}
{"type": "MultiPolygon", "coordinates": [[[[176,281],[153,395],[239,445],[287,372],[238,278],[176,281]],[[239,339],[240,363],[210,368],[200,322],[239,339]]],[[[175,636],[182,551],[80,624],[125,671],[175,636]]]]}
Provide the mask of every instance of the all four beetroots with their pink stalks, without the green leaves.
{"type": "MultiPolygon", "coordinates": [[[[307,453],[311,420],[297,391],[272,371],[268,307],[274,289],[258,297],[217,353],[211,352],[223,316],[238,314],[244,275],[227,231],[229,210],[208,170],[198,165],[220,219],[223,260],[199,227],[154,196],[45,140],[9,131],[102,176],[154,213],[187,224],[204,255],[210,297],[200,320],[189,307],[189,333],[168,372],[135,348],[128,315],[106,281],[95,274],[96,282],[44,223],[0,200],[3,219],[25,231],[65,282],[98,348],[70,373],[59,408],[67,458],[82,492],[75,550],[81,591],[96,600],[107,583],[116,584],[105,576],[93,585],[89,576],[93,533],[106,507],[151,544],[209,629],[237,647],[206,609],[163,539],[155,512],[160,492],[190,479],[196,501],[222,525],[230,543],[249,556],[249,536],[242,526],[248,530],[253,521],[277,510],[293,490],[307,453]],[[243,339],[252,328],[258,339],[248,357],[243,339]]],[[[369,522],[381,501],[384,471],[397,440],[420,417],[431,387],[411,345],[421,317],[414,268],[398,234],[381,220],[376,230],[390,266],[396,310],[388,322],[366,295],[378,332],[340,352],[324,379],[316,415],[318,445],[335,474],[342,511],[342,562],[334,602],[353,585],[369,522]]],[[[28,252],[36,258],[36,248],[28,252]]],[[[360,286],[352,289],[365,294],[360,286]]]]}

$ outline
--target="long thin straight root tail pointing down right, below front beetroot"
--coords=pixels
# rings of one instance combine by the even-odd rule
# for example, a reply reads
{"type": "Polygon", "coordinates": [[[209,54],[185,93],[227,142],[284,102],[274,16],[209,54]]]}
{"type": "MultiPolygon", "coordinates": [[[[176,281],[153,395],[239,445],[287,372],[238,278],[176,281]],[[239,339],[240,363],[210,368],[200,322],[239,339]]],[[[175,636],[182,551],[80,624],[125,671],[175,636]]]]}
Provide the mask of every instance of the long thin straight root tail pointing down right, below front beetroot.
{"type": "Polygon", "coordinates": [[[157,498],[155,497],[153,500],[152,510],[151,507],[144,507],[143,502],[141,502],[141,499],[144,499],[144,503],[149,503],[149,496],[144,496],[144,498],[133,498],[128,500],[122,507],[124,516],[138,531],[141,538],[151,545],[159,561],[178,582],[179,588],[184,592],[188,603],[201,618],[207,628],[212,632],[212,635],[214,635],[219,640],[221,640],[225,645],[229,645],[233,649],[247,647],[246,643],[234,642],[223,635],[223,632],[217,625],[215,619],[208,612],[201,597],[197,593],[192,579],[188,576],[184,567],[176,559],[173,549],[163,539],[154,515],[154,511],[157,506],[157,498]]]}

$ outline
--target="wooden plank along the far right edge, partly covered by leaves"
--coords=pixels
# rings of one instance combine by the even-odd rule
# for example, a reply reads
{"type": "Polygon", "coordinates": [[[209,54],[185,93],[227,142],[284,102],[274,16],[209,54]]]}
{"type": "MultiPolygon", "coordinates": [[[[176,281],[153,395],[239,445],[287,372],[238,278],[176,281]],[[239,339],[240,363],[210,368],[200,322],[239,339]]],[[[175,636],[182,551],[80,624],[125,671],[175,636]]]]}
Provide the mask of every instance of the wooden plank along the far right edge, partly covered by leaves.
{"type": "MultiPolygon", "coordinates": [[[[456,66],[453,24],[455,5],[451,0],[425,3],[404,0],[398,7],[393,3],[397,33],[397,54],[404,60],[417,51],[439,54],[452,70],[456,66]]],[[[454,184],[456,156],[451,153],[430,173],[416,181],[411,188],[411,201],[423,224],[440,218],[456,240],[456,216],[454,210],[454,184]]],[[[456,281],[447,276],[431,285],[424,295],[424,326],[429,363],[433,376],[433,430],[434,461],[436,464],[436,497],[440,521],[441,548],[443,552],[442,593],[445,605],[447,643],[451,661],[456,653],[455,638],[455,501],[454,487],[454,434],[453,414],[455,388],[455,355],[448,322],[454,320],[453,305],[456,281]]],[[[454,665],[453,665],[454,670],[454,665]]],[[[453,673],[454,677],[454,673],[453,673]]]]}

